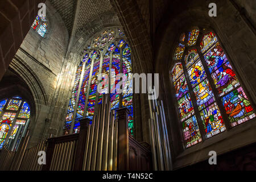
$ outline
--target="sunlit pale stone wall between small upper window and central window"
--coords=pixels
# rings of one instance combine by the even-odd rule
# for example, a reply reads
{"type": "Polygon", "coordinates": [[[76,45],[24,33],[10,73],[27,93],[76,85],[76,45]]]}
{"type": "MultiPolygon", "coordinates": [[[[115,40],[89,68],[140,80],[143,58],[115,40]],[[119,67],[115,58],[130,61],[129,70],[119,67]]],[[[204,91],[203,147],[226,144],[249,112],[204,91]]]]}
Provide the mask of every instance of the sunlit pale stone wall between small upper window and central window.
{"type": "Polygon", "coordinates": [[[46,5],[48,20],[46,35],[43,38],[30,28],[10,66],[18,73],[17,75],[27,82],[35,100],[36,115],[34,121],[30,123],[31,145],[38,143],[48,132],[46,118],[49,118],[52,113],[51,108],[56,104],[54,97],[59,88],[57,83],[63,69],[68,46],[68,31],[63,20],[48,1],[46,5]],[[24,65],[20,65],[22,62],[27,65],[27,71],[33,74],[20,73],[24,67],[24,65]],[[18,65],[17,69],[15,69],[15,65],[18,65]],[[42,92],[36,90],[38,88],[42,88],[42,92]],[[40,94],[43,95],[45,102],[39,101],[40,94]]]}

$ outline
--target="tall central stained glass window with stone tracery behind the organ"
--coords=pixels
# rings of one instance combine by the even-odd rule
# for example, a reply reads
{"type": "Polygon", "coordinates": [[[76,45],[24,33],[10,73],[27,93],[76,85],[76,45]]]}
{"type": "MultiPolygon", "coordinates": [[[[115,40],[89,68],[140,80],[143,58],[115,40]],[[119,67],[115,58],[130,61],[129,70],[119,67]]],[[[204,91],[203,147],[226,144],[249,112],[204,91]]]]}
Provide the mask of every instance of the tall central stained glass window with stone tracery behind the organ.
{"type": "Polygon", "coordinates": [[[118,80],[110,87],[110,103],[112,110],[127,107],[129,113],[129,129],[133,135],[133,94],[132,94],[132,66],[131,50],[125,40],[125,34],[118,29],[112,28],[104,30],[88,43],[89,46],[84,51],[84,57],[79,63],[75,76],[75,83],[72,95],[69,100],[67,117],[65,118],[64,131],[77,133],[80,129],[79,119],[86,117],[93,119],[95,105],[102,103],[102,96],[106,93],[105,85],[102,85],[101,93],[97,93],[97,76],[105,73],[109,76],[110,82],[119,73],[125,74],[126,85],[123,84],[123,93],[114,92],[119,88],[118,80]],[[109,75],[110,69],[112,74],[109,75]]]}

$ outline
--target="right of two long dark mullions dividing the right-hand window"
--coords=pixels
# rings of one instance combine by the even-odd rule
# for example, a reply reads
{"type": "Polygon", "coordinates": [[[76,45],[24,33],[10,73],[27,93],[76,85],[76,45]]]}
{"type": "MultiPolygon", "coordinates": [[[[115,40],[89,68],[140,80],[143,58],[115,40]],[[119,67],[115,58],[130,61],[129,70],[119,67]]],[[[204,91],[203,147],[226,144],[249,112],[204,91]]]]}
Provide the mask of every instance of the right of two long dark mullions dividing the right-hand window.
{"type": "MultiPolygon", "coordinates": [[[[200,37],[201,37],[201,36],[200,36],[200,37]]],[[[201,40],[201,39],[200,39],[200,40],[201,40]]],[[[207,75],[207,79],[208,79],[208,81],[209,81],[209,83],[210,83],[210,86],[211,86],[211,88],[212,88],[213,95],[214,95],[214,98],[215,98],[215,102],[217,102],[217,105],[218,105],[218,107],[219,107],[219,109],[220,109],[220,113],[221,113],[222,119],[223,119],[223,121],[224,121],[224,123],[225,123],[226,130],[230,130],[230,129],[231,129],[231,126],[230,126],[230,122],[229,122],[228,116],[226,115],[224,106],[223,106],[223,104],[222,104],[222,102],[221,102],[220,97],[218,96],[218,92],[217,92],[217,90],[216,90],[216,88],[215,88],[215,84],[213,83],[212,75],[210,75],[210,72],[209,72],[208,66],[207,66],[207,64],[206,64],[206,61],[205,61],[205,59],[204,59],[203,53],[201,53],[201,51],[200,51],[200,46],[198,46],[198,45],[197,45],[197,50],[198,50],[197,52],[198,52],[198,54],[199,54],[201,63],[202,63],[202,65],[203,65],[204,70],[205,70],[205,73],[206,73],[206,75],[207,75]]]]}

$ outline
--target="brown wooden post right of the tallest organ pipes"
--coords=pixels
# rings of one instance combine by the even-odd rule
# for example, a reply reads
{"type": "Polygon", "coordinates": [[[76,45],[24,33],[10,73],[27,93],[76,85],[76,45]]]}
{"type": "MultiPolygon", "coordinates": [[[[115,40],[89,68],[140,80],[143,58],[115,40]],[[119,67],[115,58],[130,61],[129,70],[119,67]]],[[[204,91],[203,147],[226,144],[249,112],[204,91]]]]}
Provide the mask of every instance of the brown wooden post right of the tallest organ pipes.
{"type": "Polygon", "coordinates": [[[129,170],[129,130],[128,112],[126,107],[117,110],[118,139],[117,139],[117,170],[129,170]]]}

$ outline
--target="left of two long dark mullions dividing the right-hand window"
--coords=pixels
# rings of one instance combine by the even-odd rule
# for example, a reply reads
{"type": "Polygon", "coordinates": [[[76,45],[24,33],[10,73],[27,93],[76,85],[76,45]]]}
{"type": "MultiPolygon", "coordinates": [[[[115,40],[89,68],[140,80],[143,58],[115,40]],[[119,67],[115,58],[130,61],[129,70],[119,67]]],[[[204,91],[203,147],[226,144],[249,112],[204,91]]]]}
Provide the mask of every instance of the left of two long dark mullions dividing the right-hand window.
{"type": "Polygon", "coordinates": [[[200,134],[201,134],[201,138],[204,141],[206,133],[205,133],[205,130],[204,130],[203,123],[201,122],[200,112],[199,112],[199,109],[198,109],[198,106],[197,106],[195,94],[193,93],[193,88],[192,88],[191,82],[189,80],[187,67],[184,63],[184,57],[185,57],[185,54],[183,55],[183,57],[181,59],[181,64],[182,64],[182,67],[183,67],[183,72],[184,72],[185,78],[187,80],[188,92],[190,94],[192,104],[193,104],[193,109],[195,111],[195,115],[196,115],[196,119],[197,119],[197,125],[199,126],[199,131],[200,131],[200,134]]]}

